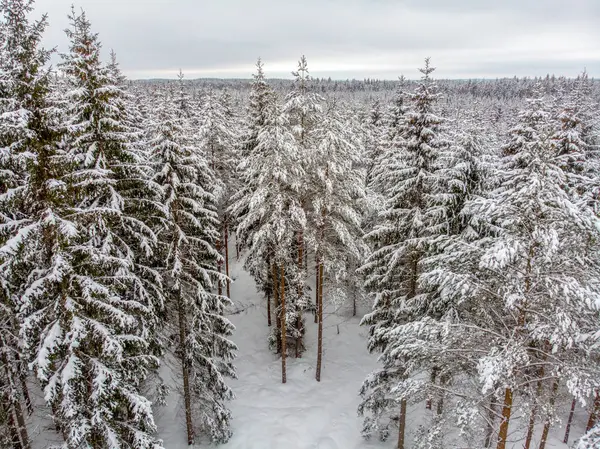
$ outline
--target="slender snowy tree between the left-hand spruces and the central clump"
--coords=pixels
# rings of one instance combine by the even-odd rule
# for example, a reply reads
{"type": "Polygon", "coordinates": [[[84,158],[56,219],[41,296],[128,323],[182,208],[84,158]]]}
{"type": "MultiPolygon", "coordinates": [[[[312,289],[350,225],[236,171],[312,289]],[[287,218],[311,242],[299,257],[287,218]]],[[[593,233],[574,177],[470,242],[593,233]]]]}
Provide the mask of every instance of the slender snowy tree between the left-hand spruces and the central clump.
{"type": "Polygon", "coordinates": [[[222,100],[212,90],[205,93],[199,118],[198,146],[208,158],[218,181],[213,187],[222,235],[217,246],[225,255],[226,292],[230,297],[228,243],[231,219],[227,210],[231,204],[235,185],[236,142],[239,140],[239,127],[236,117],[230,114],[230,109],[222,100]]]}

